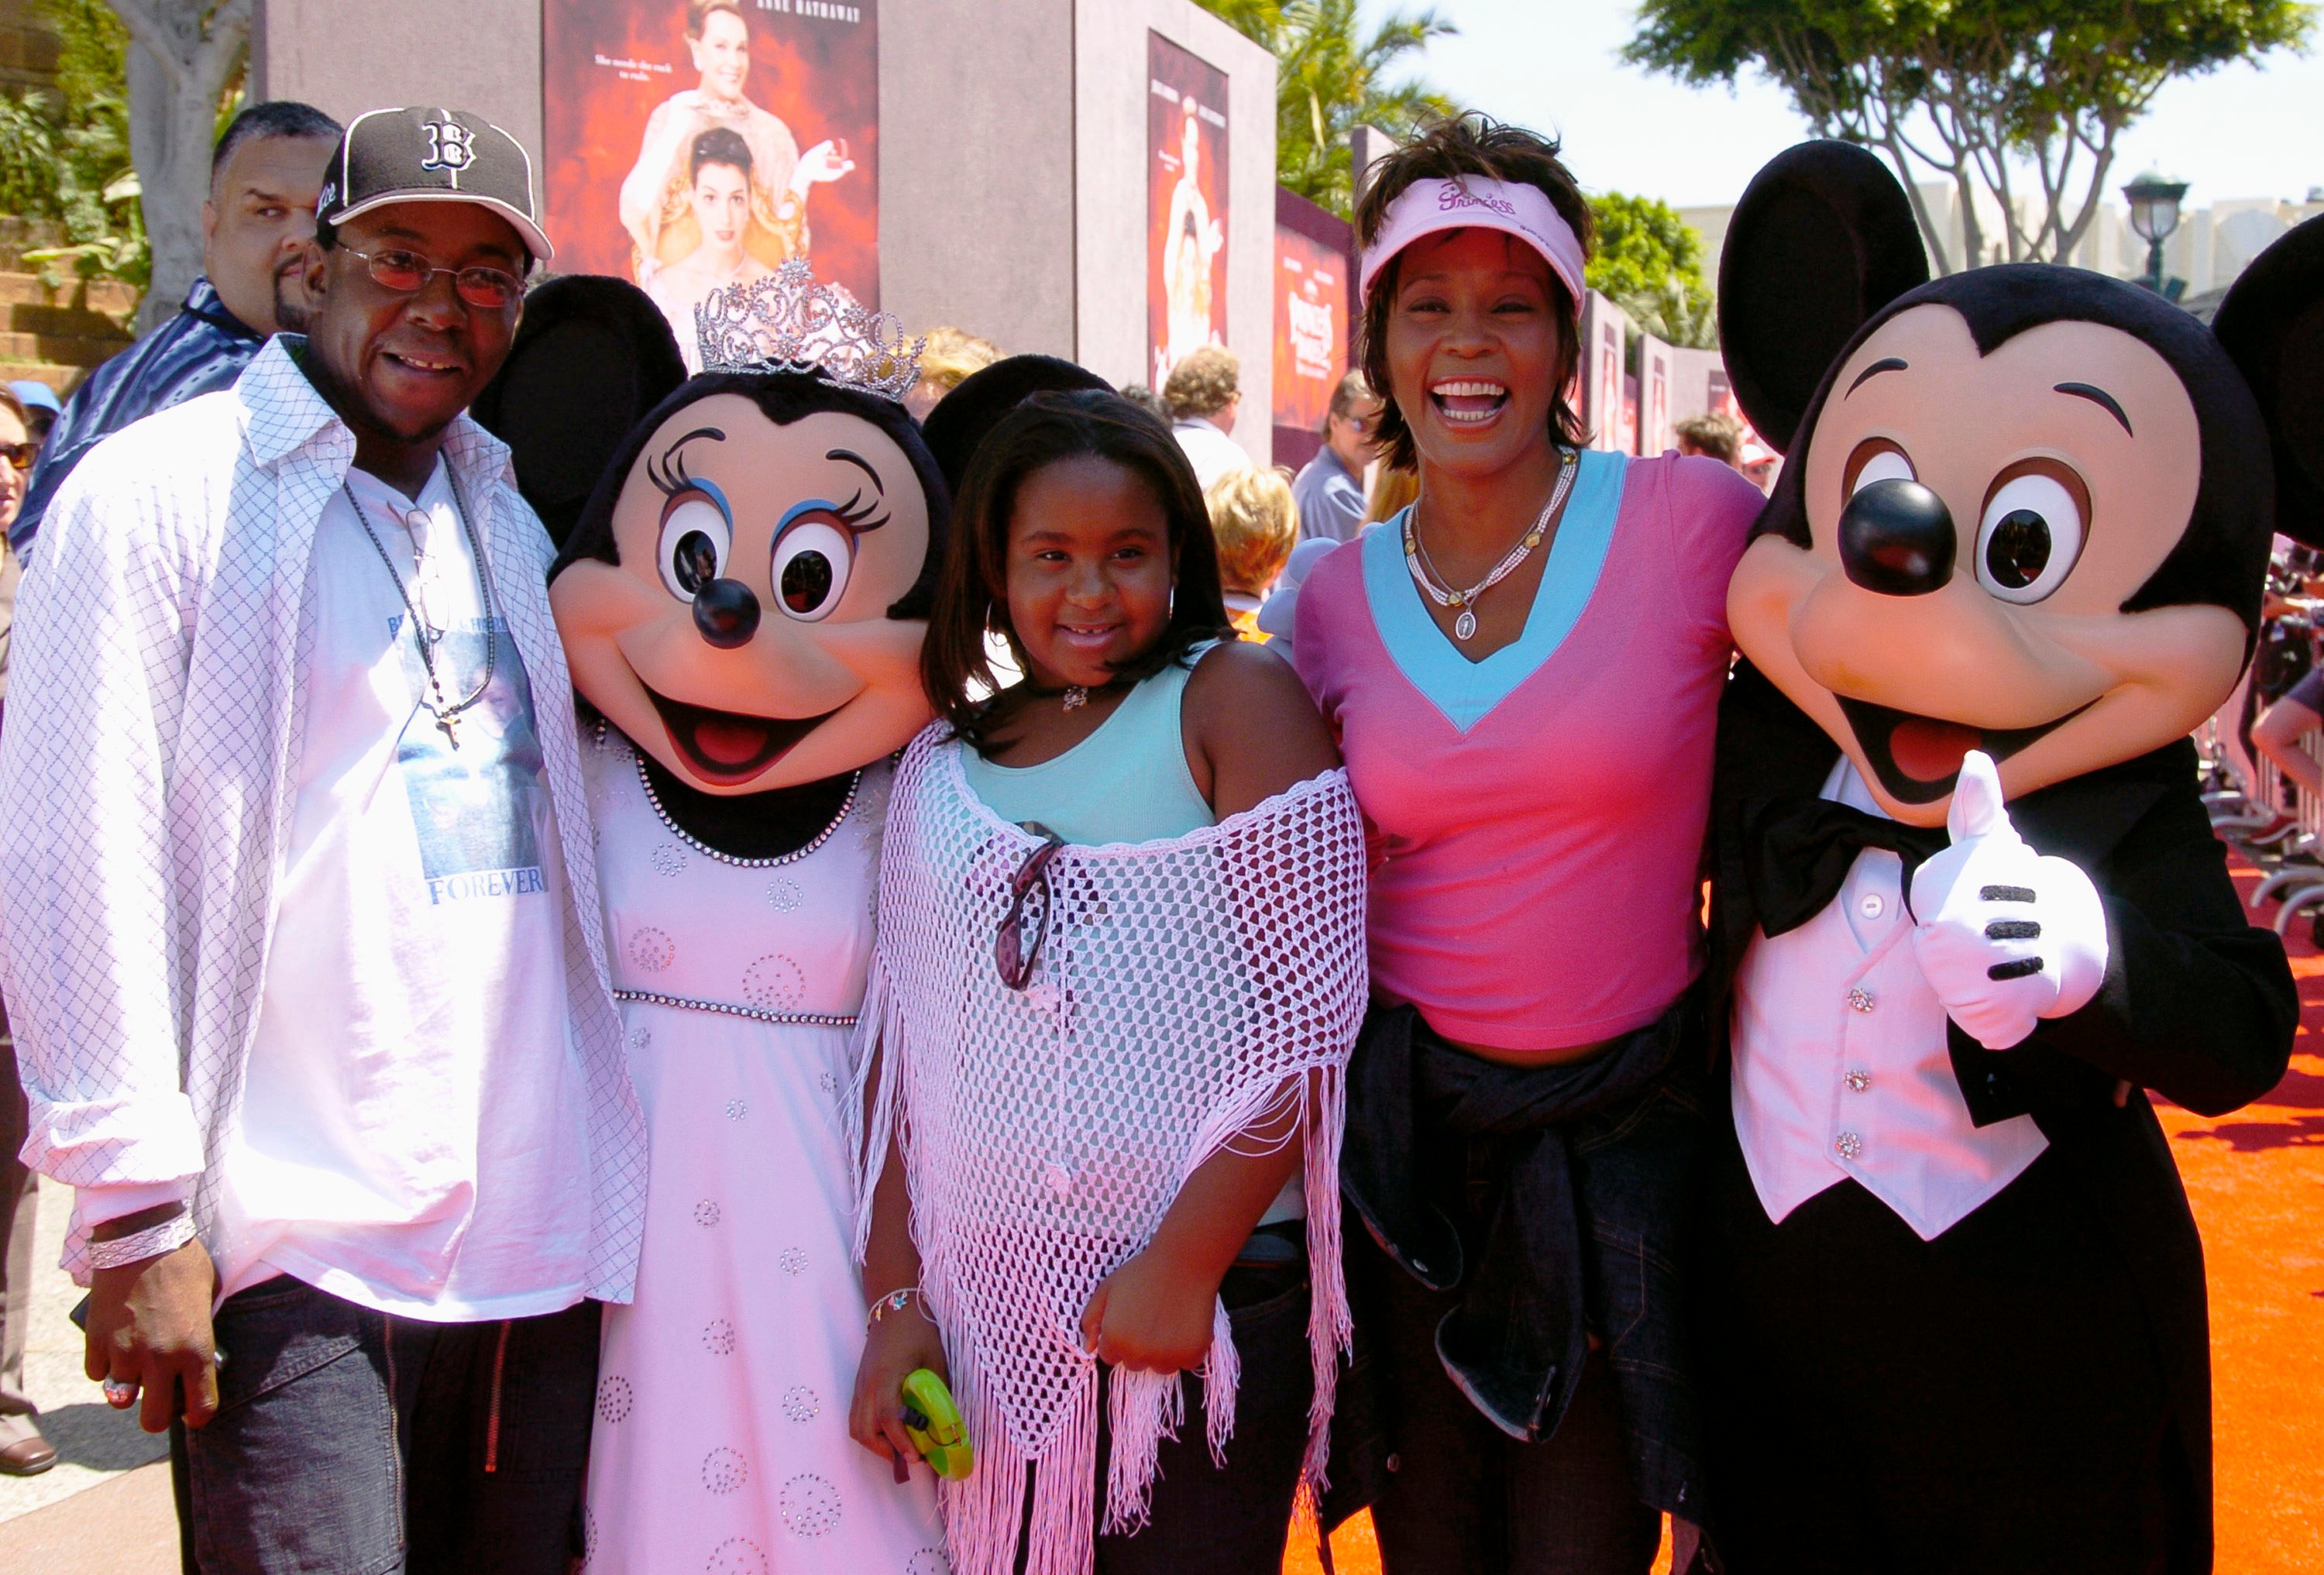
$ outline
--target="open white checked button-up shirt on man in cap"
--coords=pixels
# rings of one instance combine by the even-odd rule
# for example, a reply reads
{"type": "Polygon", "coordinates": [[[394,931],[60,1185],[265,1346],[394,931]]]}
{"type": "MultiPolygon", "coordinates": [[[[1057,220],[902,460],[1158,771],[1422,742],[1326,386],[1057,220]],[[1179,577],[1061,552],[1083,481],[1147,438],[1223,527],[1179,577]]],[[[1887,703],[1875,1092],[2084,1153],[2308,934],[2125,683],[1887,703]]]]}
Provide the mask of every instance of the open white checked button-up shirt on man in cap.
{"type": "MultiPolygon", "coordinates": [[[[237,1257],[218,1180],[242,1127],[307,732],[316,525],[353,458],[353,432],[274,339],[232,388],[130,425],[79,465],[16,604],[0,815],[19,834],[0,860],[0,990],[30,1099],[23,1157],[112,1201],[191,1180],[218,1259],[237,1257]]],[[[444,460],[537,699],[586,1080],[588,1294],[627,1301],[646,1129],[607,985],[551,544],[483,427],[460,416],[444,460]]]]}

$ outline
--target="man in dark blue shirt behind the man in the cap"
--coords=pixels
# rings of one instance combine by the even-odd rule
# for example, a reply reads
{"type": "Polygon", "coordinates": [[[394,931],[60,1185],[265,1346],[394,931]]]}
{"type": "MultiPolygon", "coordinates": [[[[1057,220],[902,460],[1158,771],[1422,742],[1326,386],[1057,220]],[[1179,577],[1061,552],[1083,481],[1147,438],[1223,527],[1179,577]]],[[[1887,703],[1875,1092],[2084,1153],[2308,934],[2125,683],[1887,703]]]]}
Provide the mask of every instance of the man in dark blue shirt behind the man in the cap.
{"type": "Polygon", "coordinates": [[[339,146],[339,123],[314,105],[267,100],[237,114],[209,153],[202,200],[202,276],[186,304],[135,346],[91,372],[44,439],[23,509],[7,527],[28,555],[49,502],[91,448],[121,427],[228,388],[267,335],[300,332],[300,260],[314,235],[314,193],[339,146]]]}

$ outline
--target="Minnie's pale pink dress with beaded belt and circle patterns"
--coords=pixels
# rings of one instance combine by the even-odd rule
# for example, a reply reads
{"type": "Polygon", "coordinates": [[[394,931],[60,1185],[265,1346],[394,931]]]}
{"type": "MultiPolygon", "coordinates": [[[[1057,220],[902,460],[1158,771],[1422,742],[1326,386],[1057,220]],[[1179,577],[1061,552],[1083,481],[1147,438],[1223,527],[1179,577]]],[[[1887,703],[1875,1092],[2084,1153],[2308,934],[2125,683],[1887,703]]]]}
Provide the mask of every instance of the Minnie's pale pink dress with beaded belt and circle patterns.
{"type": "Polygon", "coordinates": [[[865,1347],[841,1099],[888,767],[786,860],[693,843],[621,734],[583,753],[646,1106],[637,1301],[607,1308],[590,1575],[944,1575],[932,1477],[848,1438],[865,1347]]]}

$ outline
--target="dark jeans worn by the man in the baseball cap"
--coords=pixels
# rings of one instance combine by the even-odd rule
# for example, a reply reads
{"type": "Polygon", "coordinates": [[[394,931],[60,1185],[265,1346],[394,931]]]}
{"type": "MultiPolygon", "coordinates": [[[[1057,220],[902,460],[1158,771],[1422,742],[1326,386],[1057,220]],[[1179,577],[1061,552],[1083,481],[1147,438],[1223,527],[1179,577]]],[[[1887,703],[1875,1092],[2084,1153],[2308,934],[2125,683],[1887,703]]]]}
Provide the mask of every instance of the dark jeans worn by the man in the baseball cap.
{"type": "Polygon", "coordinates": [[[216,1317],[221,1405],[186,1436],[205,1575],[565,1575],[597,1303],[423,1324],[288,1275],[216,1317]]]}

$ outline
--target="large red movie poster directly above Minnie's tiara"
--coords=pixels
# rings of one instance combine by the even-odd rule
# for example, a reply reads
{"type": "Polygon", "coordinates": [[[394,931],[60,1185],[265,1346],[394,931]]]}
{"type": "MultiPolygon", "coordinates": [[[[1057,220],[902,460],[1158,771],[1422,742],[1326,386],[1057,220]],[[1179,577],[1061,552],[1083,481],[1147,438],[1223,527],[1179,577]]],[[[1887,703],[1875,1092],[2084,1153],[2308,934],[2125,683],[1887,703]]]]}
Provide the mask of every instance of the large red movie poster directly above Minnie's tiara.
{"type": "Polygon", "coordinates": [[[878,0],[548,0],[546,230],[634,279],[697,369],[695,302],[790,258],[878,307],[878,0]]]}

